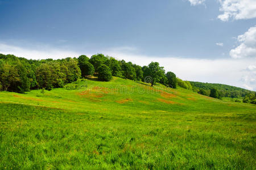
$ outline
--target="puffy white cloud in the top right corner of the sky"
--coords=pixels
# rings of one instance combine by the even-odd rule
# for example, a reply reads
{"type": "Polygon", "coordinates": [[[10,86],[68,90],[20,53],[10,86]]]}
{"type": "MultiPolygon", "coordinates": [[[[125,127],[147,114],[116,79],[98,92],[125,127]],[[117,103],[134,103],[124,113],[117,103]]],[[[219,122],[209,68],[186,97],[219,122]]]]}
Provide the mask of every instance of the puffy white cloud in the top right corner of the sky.
{"type": "Polygon", "coordinates": [[[223,14],[218,15],[218,19],[226,22],[229,19],[250,19],[256,18],[255,0],[219,0],[220,11],[223,14]]]}

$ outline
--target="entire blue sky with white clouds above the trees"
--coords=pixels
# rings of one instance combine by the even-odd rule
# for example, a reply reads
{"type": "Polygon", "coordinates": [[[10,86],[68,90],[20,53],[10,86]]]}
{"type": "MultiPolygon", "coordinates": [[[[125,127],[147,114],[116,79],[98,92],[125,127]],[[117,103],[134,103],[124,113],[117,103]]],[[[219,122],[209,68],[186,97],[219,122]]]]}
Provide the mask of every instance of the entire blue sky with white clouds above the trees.
{"type": "Polygon", "coordinates": [[[103,53],[256,91],[255,0],[0,0],[0,53],[103,53]]]}

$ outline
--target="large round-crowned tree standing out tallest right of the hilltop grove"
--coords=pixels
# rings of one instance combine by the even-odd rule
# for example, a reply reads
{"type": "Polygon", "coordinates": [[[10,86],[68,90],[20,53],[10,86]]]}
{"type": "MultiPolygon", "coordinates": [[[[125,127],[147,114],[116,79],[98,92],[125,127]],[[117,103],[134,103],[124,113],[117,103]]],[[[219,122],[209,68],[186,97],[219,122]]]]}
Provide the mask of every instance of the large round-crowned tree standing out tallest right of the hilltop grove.
{"type": "Polygon", "coordinates": [[[151,62],[145,70],[145,79],[144,81],[153,84],[156,84],[160,81],[161,75],[164,74],[163,67],[159,66],[158,62],[151,62]]]}

